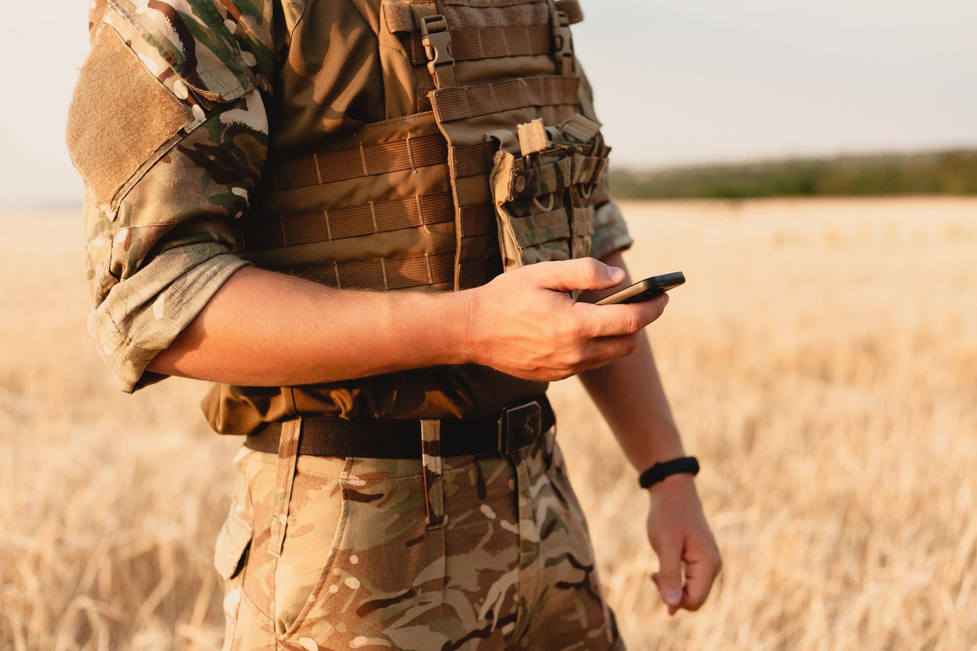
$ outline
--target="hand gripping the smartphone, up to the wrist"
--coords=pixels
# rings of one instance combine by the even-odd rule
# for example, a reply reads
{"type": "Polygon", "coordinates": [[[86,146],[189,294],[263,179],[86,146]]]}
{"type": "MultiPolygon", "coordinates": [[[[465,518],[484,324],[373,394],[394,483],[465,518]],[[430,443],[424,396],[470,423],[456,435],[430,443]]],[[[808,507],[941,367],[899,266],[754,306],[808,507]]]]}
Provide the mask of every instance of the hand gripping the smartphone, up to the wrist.
{"type": "Polygon", "coordinates": [[[634,352],[667,296],[631,305],[573,301],[570,290],[616,287],[624,271],[592,258],[537,263],[469,293],[466,357],[509,375],[563,380],[634,352]]]}

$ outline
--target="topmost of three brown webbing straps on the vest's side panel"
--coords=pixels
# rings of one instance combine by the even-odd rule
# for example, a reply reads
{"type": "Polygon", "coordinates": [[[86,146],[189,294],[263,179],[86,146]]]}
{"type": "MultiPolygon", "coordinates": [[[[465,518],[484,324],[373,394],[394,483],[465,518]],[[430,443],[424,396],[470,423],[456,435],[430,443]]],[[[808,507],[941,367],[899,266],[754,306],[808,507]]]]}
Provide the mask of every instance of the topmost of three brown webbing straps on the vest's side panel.
{"type": "Polygon", "coordinates": [[[271,169],[275,189],[287,190],[446,162],[445,137],[431,134],[296,156],[273,162],[271,169]]]}

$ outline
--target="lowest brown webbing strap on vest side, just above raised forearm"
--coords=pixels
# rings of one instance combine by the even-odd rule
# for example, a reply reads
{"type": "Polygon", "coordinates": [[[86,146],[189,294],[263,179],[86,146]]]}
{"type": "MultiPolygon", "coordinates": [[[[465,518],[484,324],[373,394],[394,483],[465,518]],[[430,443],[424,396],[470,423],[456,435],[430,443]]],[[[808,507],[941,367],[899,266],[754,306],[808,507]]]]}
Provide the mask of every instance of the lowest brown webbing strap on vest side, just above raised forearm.
{"type": "MultiPolygon", "coordinates": [[[[472,278],[484,278],[482,284],[493,276],[492,263],[472,263],[468,271],[472,278]]],[[[362,263],[333,263],[325,266],[307,266],[281,269],[293,276],[315,280],[338,289],[392,290],[437,285],[454,282],[454,252],[430,253],[409,258],[382,258],[362,263]]]]}

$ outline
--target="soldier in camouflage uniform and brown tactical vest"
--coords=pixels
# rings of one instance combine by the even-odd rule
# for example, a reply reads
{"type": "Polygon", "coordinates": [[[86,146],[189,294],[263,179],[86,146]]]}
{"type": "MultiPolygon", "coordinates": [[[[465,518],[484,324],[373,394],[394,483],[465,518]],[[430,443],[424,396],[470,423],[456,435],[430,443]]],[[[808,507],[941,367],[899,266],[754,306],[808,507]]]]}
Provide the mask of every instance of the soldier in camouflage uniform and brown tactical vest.
{"type": "Polygon", "coordinates": [[[642,335],[667,299],[589,305],[631,239],[578,20],[92,1],[88,327],[122,390],[211,381],[211,426],[246,435],[226,648],[622,648],[545,397],[577,374],[643,471],[669,612],[705,599],[719,555],[642,335]]]}

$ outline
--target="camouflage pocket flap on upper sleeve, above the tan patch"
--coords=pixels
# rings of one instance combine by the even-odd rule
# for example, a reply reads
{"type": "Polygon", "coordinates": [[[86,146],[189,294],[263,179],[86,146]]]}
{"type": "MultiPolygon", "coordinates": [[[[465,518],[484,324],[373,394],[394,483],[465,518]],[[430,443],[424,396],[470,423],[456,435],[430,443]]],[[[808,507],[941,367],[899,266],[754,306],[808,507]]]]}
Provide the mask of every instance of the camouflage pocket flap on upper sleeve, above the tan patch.
{"type": "Polygon", "coordinates": [[[209,0],[108,0],[108,4],[203,99],[231,102],[254,88],[254,75],[234,35],[209,0]],[[192,13],[181,11],[184,8],[192,13]]]}

